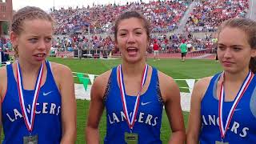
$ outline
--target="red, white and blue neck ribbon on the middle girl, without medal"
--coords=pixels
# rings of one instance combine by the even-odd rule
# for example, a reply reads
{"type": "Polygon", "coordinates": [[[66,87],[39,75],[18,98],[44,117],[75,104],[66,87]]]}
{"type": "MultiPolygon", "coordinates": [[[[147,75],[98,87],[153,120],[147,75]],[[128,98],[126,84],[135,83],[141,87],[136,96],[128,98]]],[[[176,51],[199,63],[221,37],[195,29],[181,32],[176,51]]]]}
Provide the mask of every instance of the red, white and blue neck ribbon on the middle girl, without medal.
{"type": "Polygon", "coordinates": [[[144,67],[143,73],[142,73],[141,89],[138,92],[136,102],[135,102],[135,105],[134,105],[134,111],[133,111],[131,119],[129,117],[128,110],[127,110],[127,105],[126,105],[126,90],[125,90],[125,85],[123,83],[122,66],[120,65],[118,68],[119,68],[118,69],[118,76],[119,76],[118,81],[119,81],[119,85],[120,85],[120,94],[121,94],[121,98],[122,98],[122,108],[123,108],[125,116],[126,116],[126,122],[128,123],[128,126],[130,127],[130,130],[132,130],[133,127],[134,127],[134,122],[135,122],[136,115],[137,115],[137,112],[138,112],[139,99],[140,99],[140,94],[141,94],[141,91],[142,91],[142,87],[144,86],[144,84],[146,82],[146,75],[147,75],[147,71],[148,71],[148,65],[146,64],[146,66],[144,67]]]}

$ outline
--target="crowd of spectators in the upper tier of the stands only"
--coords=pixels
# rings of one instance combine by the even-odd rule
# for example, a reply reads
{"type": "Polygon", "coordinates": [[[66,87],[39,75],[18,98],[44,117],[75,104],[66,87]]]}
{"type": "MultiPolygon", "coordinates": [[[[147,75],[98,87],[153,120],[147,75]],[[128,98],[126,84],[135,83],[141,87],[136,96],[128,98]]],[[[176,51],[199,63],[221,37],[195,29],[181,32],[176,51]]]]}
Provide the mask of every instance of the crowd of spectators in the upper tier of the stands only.
{"type": "MultiPolygon", "coordinates": [[[[150,20],[153,33],[169,33],[178,27],[190,1],[130,2],[53,10],[55,34],[112,34],[115,18],[126,10],[138,10],[150,20]],[[89,33],[90,32],[90,33],[89,33]]],[[[189,32],[214,32],[228,18],[245,17],[248,0],[198,1],[186,22],[189,32]]]]}

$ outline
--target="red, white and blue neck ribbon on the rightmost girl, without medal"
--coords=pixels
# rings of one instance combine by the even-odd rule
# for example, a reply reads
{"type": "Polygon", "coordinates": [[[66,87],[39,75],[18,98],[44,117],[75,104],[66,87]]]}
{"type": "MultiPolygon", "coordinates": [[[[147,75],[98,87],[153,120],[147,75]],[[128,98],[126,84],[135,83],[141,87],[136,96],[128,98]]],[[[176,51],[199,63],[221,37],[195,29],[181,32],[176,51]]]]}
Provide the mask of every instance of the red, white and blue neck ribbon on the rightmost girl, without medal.
{"type": "Polygon", "coordinates": [[[223,123],[223,117],[222,117],[222,108],[223,108],[223,102],[224,102],[224,72],[222,74],[222,86],[221,86],[221,90],[220,90],[220,94],[219,94],[219,101],[218,101],[218,116],[219,116],[219,130],[221,132],[221,138],[225,138],[225,134],[226,131],[228,129],[228,127],[230,126],[230,122],[231,119],[233,117],[234,114],[234,110],[235,108],[238,106],[238,102],[241,100],[243,94],[246,92],[246,89],[248,88],[248,86],[250,85],[251,80],[254,78],[254,74],[250,71],[244,82],[242,83],[242,86],[240,87],[240,90],[238,91],[238,94],[236,96],[236,98],[234,99],[234,103],[230,109],[230,112],[228,114],[228,117],[226,118],[226,125],[225,125],[225,129],[224,129],[224,123],[223,123]]]}

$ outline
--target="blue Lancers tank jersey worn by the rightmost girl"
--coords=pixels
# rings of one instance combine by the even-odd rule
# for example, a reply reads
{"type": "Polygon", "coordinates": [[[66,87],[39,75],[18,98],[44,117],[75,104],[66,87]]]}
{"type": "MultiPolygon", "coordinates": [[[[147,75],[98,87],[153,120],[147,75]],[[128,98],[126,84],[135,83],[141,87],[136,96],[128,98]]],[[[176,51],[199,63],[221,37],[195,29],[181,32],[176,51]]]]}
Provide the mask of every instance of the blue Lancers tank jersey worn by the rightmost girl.
{"type": "MultiPolygon", "coordinates": [[[[201,144],[215,144],[222,141],[219,130],[218,97],[216,87],[221,74],[216,74],[210,80],[210,85],[201,102],[202,130],[199,141],[201,144]]],[[[233,102],[223,102],[223,125],[230,112],[233,102]]],[[[256,143],[256,77],[252,79],[246,92],[238,102],[230,121],[229,129],[223,142],[229,144],[256,143]]]]}

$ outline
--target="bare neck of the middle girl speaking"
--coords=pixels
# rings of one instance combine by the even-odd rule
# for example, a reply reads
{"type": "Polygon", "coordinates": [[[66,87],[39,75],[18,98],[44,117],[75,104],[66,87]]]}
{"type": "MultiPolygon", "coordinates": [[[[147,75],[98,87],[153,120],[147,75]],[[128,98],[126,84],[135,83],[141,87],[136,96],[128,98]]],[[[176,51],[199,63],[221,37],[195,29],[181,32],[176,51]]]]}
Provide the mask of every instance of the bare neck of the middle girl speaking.
{"type": "Polygon", "coordinates": [[[146,62],[144,61],[137,63],[122,62],[122,74],[126,74],[126,76],[141,76],[145,66],[146,62]]]}

